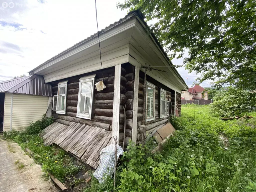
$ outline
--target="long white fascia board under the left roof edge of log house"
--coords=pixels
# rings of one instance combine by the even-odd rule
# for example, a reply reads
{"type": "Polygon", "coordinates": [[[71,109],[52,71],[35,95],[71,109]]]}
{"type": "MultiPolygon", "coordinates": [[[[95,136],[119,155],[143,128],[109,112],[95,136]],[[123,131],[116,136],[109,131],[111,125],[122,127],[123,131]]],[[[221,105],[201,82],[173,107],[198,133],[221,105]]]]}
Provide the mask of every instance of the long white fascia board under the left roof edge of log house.
{"type": "MultiPolygon", "coordinates": [[[[109,29],[105,33],[100,34],[100,42],[103,42],[115,35],[123,33],[130,28],[133,28],[135,26],[135,22],[136,22],[136,17],[133,17],[133,18],[127,19],[126,21],[124,21],[121,24],[118,24],[117,26],[114,26],[112,29],[109,29]]],[[[46,62],[44,65],[41,65],[38,68],[35,68],[33,70],[33,73],[39,74],[39,73],[41,73],[42,70],[47,69],[49,66],[52,66],[55,63],[58,63],[64,59],[67,59],[73,55],[78,54],[79,52],[81,52],[83,50],[89,49],[90,47],[98,45],[98,44],[99,44],[99,40],[98,40],[98,36],[97,36],[97,37],[94,37],[94,38],[84,42],[84,44],[81,44],[78,47],[74,47],[73,49],[68,50],[66,53],[63,53],[59,57],[57,57],[49,62],[46,62]]],[[[101,48],[103,48],[103,47],[101,47],[101,48]]]]}

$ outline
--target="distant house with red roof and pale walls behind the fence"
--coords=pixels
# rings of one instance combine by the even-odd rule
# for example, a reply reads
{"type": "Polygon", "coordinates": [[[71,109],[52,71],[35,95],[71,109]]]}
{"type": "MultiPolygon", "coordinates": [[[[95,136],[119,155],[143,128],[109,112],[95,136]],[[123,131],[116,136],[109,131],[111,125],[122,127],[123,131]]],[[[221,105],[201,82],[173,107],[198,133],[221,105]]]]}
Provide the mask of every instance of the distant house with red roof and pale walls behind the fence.
{"type": "Polygon", "coordinates": [[[208,99],[208,92],[204,92],[204,88],[200,85],[195,85],[188,89],[188,91],[182,91],[182,98],[184,100],[199,100],[199,99],[208,99]]]}

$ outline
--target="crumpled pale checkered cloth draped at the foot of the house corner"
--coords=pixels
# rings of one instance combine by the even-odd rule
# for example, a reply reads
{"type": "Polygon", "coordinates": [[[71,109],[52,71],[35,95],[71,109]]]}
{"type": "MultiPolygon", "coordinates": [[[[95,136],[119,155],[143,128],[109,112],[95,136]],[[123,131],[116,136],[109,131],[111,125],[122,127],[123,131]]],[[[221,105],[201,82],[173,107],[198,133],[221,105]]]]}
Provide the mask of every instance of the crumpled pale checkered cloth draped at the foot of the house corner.
{"type": "MultiPolygon", "coordinates": [[[[120,155],[124,153],[122,147],[119,145],[117,148],[117,159],[120,155]]],[[[108,176],[111,176],[114,173],[115,167],[115,145],[111,144],[103,148],[100,152],[100,165],[93,173],[93,176],[96,177],[99,183],[104,183],[105,179],[108,176]]]]}

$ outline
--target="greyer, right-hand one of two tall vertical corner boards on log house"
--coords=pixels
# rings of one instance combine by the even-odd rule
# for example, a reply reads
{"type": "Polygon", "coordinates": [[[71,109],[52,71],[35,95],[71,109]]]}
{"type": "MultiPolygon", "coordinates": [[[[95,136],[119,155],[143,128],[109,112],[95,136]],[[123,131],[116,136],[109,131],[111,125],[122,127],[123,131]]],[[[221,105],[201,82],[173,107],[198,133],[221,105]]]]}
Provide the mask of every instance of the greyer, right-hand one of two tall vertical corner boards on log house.
{"type": "MultiPolygon", "coordinates": [[[[146,69],[145,69],[145,71],[146,71],[146,69]]],[[[136,66],[135,67],[135,76],[134,76],[133,115],[132,115],[132,142],[134,142],[134,143],[136,143],[136,140],[137,140],[139,74],[140,74],[140,68],[136,66]]],[[[144,105],[145,105],[145,103],[144,103],[144,105]]]]}

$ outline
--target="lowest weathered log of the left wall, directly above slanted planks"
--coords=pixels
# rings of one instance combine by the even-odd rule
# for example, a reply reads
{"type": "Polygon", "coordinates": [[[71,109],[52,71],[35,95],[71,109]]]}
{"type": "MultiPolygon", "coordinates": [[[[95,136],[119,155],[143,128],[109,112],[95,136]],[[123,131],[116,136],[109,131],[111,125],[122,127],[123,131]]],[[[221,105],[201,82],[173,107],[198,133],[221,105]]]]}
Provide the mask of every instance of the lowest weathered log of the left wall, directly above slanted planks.
{"type": "Polygon", "coordinates": [[[93,120],[89,120],[89,119],[81,119],[81,118],[72,117],[72,116],[68,116],[68,115],[52,114],[52,116],[56,119],[62,119],[65,121],[76,122],[76,123],[84,123],[84,124],[87,124],[90,126],[100,127],[102,129],[109,129],[109,127],[110,127],[110,124],[93,121],[93,120]]]}

